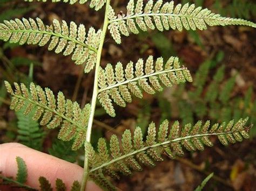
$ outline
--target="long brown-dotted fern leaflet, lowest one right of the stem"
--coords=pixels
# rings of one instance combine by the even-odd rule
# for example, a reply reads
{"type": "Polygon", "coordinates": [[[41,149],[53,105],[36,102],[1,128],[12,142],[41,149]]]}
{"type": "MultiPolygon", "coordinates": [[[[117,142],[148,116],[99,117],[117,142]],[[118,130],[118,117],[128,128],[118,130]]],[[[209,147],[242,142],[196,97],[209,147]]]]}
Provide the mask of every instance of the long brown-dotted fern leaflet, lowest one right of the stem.
{"type": "Polygon", "coordinates": [[[195,125],[187,124],[181,131],[179,122],[174,122],[169,128],[169,122],[165,120],[158,130],[152,122],[147,131],[146,141],[144,142],[142,131],[139,127],[134,131],[133,137],[130,130],[123,134],[122,144],[119,145],[117,136],[113,135],[110,139],[110,157],[107,145],[104,139],[99,139],[97,157],[90,143],[86,143],[85,151],[90,155],[90,173],[105,172],[105,169],[111,169],[113,172],[122,172],[129,175],[130,169],[140,171],[140,164],[154,166],[154,161],[162,161],[162,155],[165,154],[171,159],[175,155],[183,155],[183,147],[188,151],[204,150],[204,146],[213,146],[210,141],[211,136],[217,136],[224,145],[228,143],[241,142],[242,139],[248,139],[248,130],[246,127],[248,118],[240,119],[237,123],[233,121],[227,125],[214,124],[210,127],[210,122],[202,124],[199,121],[195,125]],[[120,150],[122,146],[123,150],[120,150]]]}

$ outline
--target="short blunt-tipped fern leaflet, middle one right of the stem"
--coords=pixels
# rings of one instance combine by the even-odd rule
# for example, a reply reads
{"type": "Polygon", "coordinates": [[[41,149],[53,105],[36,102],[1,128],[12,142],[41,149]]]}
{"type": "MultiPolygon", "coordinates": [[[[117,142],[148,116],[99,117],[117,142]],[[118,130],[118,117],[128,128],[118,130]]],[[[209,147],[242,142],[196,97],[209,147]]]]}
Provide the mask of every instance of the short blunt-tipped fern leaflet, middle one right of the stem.
{"type": "Polygon", "coordinates": [[[176,57],[171,57],[164,66],[163,58],[158,58],[154,63],[153,56],[149,56],[145,63],[143,59],[137,61],[135,71],[133,67],[133,62],[129,62],[125,69],[118,62],[115,68],[109,63],[105,69],[99,69],[98,99],[112,117],[116,115],[112,101],[125,107],[126,102],[132,101],[131,94],[142,98],[142,90],[148,94],[163,90],[161,83],[171,87],[172,84],[192,82],[189,70],[181,67],[176,57]]]}

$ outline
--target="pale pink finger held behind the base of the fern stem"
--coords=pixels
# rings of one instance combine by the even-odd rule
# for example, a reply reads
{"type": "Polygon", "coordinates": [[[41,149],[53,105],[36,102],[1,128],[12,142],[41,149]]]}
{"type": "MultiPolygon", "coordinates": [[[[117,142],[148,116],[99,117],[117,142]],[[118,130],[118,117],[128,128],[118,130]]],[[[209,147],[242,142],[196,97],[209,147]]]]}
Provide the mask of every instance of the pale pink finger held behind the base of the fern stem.
{"type": "MultiPolygon", "coordinates": [[[[62,179],[67,190],[71,190],[73,181],[81,182],[83,168],[45,154],[18,143],[0,144],[0,171],[4,176],[15,178],[17,174],[16,157],[21,157],[28,168],[26,185],[39,189],[38,178],[44,176],[55,187],[55,180],[62,179]]],[[[86,184],[86,190],[100,191],[101,189],[92,181],[86,184]]]]}

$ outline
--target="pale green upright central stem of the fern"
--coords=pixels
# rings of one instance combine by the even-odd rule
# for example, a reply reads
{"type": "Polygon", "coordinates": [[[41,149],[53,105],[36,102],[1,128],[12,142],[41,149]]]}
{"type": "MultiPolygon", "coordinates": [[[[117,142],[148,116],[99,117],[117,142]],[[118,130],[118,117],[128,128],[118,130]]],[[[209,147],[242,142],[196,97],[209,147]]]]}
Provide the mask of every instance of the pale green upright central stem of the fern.
{"type": "MultiPolygon", "coordinates": [[[[97,52],[95,80],[94,80],[94,84],[93,84],[93,95],[92,95],[92,101],[91,101],[91,114],[90,114],[89,122],[88,122],[88,126],[87,126],[86,142],[91,141],[92,124],[93,124],[93,118],[95,115],[96,101],[97,101],[97,96],[98,96],[98,72],[99,72],[99,66],[100,66],[100,59],[102,57],[102,49],[103,49],[104,40],[105,40],[105,36],[106,36],[107,26],[109,25],[109,18],[107,17],[109,5],[110,5],[110,0],[107,0],[104,24],[103,24],[103,29],[102,29],[102,36],[100,37],[99,49],[97,52]]],[[[85,151],[84,173],[83,173],[83,179],[82,179],[82,184],[81,184],[81,189],[80,189],[81,191],[85,190],[86,182],[87,182],[88,178],[89,178],[89,161],[88,161],[88,157],[87,157],[87,154],[85,151]]]]}

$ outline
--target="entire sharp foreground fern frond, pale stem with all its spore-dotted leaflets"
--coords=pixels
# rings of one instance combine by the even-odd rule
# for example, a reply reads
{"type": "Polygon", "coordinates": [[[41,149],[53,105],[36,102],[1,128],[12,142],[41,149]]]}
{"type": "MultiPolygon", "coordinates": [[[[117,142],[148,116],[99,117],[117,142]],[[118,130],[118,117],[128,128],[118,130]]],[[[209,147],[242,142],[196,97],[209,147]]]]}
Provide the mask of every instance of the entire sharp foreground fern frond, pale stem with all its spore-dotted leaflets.
{"type": "MultiPolygon", "coordinates": [[[[45,1],[43,1],[45,2],[45,1]]],[[[53,1],[56,2],[56,1],[53,1]]],[[[71,4],[86,0],[71,0],[71,4]]],[[[173,1],[163,3],[152,0],[144,4],[143,0],[129,1],[126,15],[116,15],[111,7],[110,0],[92,0],[90,7],[99,10],[105,5],[105,17],[102,29],[90,27],[86,32],[83,24],[70,24],[64,20],[60,23],[54,19],[51,25],[45,25],[40,18],[4,20],[0,24],[0,38],[10,43],[38,44],[55,53],[71,55],[77,64],[85,64],[85,73],[95,68],[95,81],[90,104],[80,109],[77,102],[66,100],[63,93],[59,92],[57,100],[49,88],[41,88],[35,83],[30,83],[29,88],[24,83],[14,83],[12,89],[9,82],[5,86],[11,94],[11,109],[16,111],[24,109],[28,115],[36,108],[32,119],[40,120],[40,125],[49,129],[60,127],[58,138],[63,141],[72,140],[72,150],[85,146],[84,174],[80,190],[84,190],[88,179],[95,181],[106,190],[116,190],[112,183],[105,177],[109,175],[118,178],[119,174],[130,175],[131,170],[142,171],[142,165],[155,166],[154,161],[162,161],[163,155],[171,159],[175,155],[183,155],[183,147],[188,151],[204,150],[204,146],[212,146],[210,136],[217,136],[224,145],[241,142],[249,138],[247,126],[248,118],[241,118],[238,122],[210,125],[201,121],[192,125],[190,123],[180,128],[179,122],[174,122],[169,127],[169,122],[164,120],[159,128],[153,122],[147,129],[146,140],[143,140],[142,129],[137,127],[133,135],[126,130],[122,136],[122,144],[116,135],[110,139],[108,149],[105,139],[98,141],[97,151],[91,145],[92,125],[95,116],[97,100],[111,117],[116,116],[113,103],[125,107],[132,102],[132,96],[143,98],[143,91],[155,94],[164,87],[172,87],[186,81],[192,82],[189,70],[181,66],[179,59],[168,56],[163,58],[139,59],[134,64],[132,61],[123,65],[118,62],[115,66],[110,63],[105,68],[100,67],[102,49],[106,32],[109,30],[117,44],[122,43],[122,35],[138,34],[147,30],[206,30],[209,26],[245,25],[256,27],[256,24],[242,19],[221,17],[208,9],[203,9],[194,4],[174,5],[173,1]],[[181,131],[180,131],[181,129],[181,131]],[[123,150],[121,150],[122,146],[123,150]]],[[[201,85],[203,86],[203,85],[201,85]]],[[[40,178],[41,188],[50,188],[45,178],[40,178]]],[[[61,180],[56,185],[65,188],[61,180]]],[[[76,188],[79,186],[74,182],[76,188]]]]}

